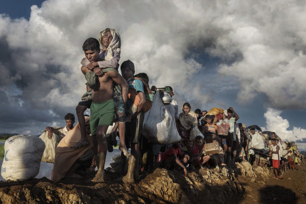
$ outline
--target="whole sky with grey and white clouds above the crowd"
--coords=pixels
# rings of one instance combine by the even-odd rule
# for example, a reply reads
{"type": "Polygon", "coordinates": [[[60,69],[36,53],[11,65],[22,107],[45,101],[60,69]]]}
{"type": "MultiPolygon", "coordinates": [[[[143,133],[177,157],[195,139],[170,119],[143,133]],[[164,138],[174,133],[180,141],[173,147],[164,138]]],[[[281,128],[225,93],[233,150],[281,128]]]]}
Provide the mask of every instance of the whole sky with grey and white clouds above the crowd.
{"type": "Polygon", "coordinates": [[[82,44],[104,28],[121,60],[192,109],[233,107],[306,149],[304,1],[29,0],[0,3],[0,133],[63,126],[84,94],[82,44]]]}

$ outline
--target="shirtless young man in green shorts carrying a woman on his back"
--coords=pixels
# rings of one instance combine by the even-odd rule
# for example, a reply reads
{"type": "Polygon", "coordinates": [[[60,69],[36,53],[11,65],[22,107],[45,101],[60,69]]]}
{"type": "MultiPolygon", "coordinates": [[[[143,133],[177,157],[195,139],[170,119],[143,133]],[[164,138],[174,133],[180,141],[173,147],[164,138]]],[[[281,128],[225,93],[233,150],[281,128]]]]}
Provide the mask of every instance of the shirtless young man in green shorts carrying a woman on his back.
{"type": "MultiPolygon", "coordinates": [[[[100,45],[95,38],[88,38],[83,44],[86,58],[90,62],[101,61],[99,56],[100,45]]],[[[90,70],[82,66],[81,71],[84,75],[90,70]]],[[[113,124],[114,109],[114,83],[122,87],[122,97],[124,102],[128,97],[128,85],[123,77],[116,71],[109,71],[97,77],[95,88],[92,90],[92,103],[90,106],[90,129],[92,141],[94,143],[95,161],[98,165],[93,182],[104,182],[104,164],[107,153],[106,131],[109,125],[113,124]]]]}

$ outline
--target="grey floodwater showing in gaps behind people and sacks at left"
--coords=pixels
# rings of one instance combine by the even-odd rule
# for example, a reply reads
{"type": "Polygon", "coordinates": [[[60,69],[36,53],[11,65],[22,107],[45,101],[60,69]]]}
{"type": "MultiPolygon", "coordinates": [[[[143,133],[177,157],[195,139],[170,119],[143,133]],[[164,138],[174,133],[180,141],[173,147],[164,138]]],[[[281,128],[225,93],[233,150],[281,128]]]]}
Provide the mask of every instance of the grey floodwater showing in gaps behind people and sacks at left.
{"type": "MultiPolygon", "coordinates": [[[[2,141],[0,141],[0,142],[2,142],[2,141]]],[[[5,142],[3,142],[3,144],[4,143],[5,142]]],[[[110,163],[113,162],[113,160],[111,160],[111,158],[114,157],[116,154],[121,154],[121,151],[119,149],[114,148],[113,152],[107,152],[106,159],[105,159],[105,169],[107,167],[110,167],[110,163]]],[[[2,162],[3,162],[3,159],[0,160],[1,166],[2,166],[2,162]]],[[[39,173],[38,173],[37,176],[35,176],[35,178],[39,179],[39,178],[42,178],[42,177],[47,177],[48,179],[51,179],[52,167],[53,167],[53,164],[46,163],[46,162],[40,162],[39,173]]],[[[4,179],[2,178],[1,175],[0,175],[0,180],[4,181],[4,179]]]]}

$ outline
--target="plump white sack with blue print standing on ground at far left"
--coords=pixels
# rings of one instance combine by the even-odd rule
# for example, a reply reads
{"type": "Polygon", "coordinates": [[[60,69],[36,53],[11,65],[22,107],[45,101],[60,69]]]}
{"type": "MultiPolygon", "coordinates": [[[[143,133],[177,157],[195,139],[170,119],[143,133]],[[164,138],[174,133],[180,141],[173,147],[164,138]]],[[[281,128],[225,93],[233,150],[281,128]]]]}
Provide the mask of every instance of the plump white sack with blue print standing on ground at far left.
{"type": "Polygon", "coordinates": [[[1,176],[23,181],[37,176],[45,143],[36,136],[16,135],[6,140],[1,176]]]}

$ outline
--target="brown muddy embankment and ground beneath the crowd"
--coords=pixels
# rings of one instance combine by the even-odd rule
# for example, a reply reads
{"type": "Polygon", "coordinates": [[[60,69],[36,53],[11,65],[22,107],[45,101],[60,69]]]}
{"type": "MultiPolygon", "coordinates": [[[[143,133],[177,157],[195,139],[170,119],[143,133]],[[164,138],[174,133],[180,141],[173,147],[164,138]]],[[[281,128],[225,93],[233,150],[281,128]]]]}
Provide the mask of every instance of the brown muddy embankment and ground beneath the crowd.
{"type": "MultiPolygon", "coordinates": [[[[238,164],[238,163],[237,163],[238,164]]],[[[183,172],[155,169],[135,184],[115,181],[106,172],[105,184],[65,178],[53,184],[47,178],[24,182],[0,182],[2,203],[306,203],[306,163],[298,171],[273,178],[269,168],[247,162],[237,169],[199,169],[183,172]]]]}

